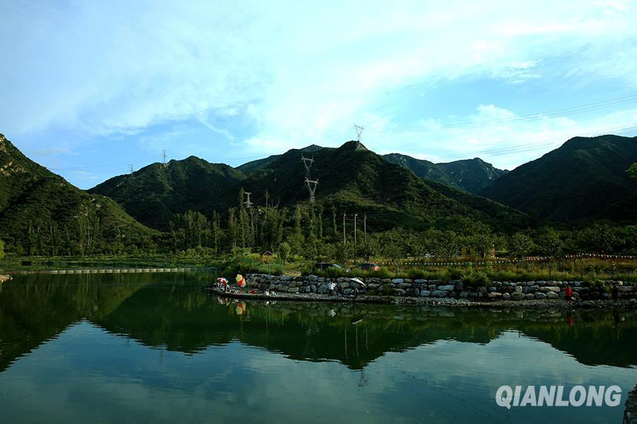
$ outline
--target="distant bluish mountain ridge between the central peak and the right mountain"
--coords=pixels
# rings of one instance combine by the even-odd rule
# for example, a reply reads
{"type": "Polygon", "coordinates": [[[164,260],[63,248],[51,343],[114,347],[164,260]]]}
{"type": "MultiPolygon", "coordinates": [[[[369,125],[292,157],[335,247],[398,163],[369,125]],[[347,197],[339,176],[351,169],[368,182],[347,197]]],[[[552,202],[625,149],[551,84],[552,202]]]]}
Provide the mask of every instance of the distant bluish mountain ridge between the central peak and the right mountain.
{"type": "Polygon", "coordinates": [[[383,158],[409,168],[418,177],[433,179],[473,194],[490,186],[496,179],[508,172],[498,170],[480,158],[456,160],[449,163],[433,163],[429,160],[401,155],[401,153],[390,153],[383,155],[383,158]]]}

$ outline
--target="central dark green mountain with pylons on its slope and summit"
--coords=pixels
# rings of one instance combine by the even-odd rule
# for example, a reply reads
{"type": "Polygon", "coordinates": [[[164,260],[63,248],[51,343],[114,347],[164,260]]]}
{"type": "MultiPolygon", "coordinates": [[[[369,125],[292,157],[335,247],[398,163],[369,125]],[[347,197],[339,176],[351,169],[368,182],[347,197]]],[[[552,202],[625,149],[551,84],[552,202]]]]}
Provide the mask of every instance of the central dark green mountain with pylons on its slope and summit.
{"type": "MultiPolygon", "coordinates": [[[[266,189],[274,203],[306,201],[309,194],[304,184],[302,153],[284,153],[248,177],[242,186],[253,193],[257,202],[265,200],[266,189]]],[[[314,158],[311,178],[319,180],[316,201],[326,208],[334,204],[340,211],[365,213],[381,228],[442,224],[460,217],[504,226],[519,226],[525,220],[522,213],[511,208],[418,178],[411,170],[355,141],[304,154],[314,158]]]]}

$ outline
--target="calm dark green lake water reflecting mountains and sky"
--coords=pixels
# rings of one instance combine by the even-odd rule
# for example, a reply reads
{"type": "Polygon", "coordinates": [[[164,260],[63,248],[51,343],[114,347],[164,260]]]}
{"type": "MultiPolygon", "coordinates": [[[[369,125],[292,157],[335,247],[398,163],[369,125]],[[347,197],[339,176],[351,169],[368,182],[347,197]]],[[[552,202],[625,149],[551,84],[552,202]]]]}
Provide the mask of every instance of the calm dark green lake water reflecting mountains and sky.
{"type": "Polygon", "coordinates": [[[207,280],[1,284],[0,423],[621,423],[637,384],[636,312],[225,304],[207,280]],[[507,410],[502,384],[622,400],[507,410]]]}

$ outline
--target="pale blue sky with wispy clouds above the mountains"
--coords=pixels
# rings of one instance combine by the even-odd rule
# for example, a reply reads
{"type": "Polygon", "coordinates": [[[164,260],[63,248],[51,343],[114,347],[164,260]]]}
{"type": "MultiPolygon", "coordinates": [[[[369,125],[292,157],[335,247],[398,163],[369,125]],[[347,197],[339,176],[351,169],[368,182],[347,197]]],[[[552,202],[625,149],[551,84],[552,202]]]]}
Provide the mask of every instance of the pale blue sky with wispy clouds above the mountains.
{"type": "Polygon", "coordinates": [[[636,1],[3,1],[0,132],[81,188],[365,126],[377,153],[512,169],[637,135],[636,1]]]}

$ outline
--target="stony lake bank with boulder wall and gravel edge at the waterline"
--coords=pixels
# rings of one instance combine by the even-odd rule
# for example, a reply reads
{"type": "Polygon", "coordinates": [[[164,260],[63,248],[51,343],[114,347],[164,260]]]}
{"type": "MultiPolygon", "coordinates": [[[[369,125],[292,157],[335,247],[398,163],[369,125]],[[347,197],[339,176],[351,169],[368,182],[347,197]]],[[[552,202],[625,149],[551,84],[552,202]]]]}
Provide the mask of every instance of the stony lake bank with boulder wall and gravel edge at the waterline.
{"type": "MultiPolygon", "coordinates": [[[[328,278],[309,276],[246,275],[248,290],[218,293],[222,296],[318,302],[393,303],[448,306],[546,306],[627,307],[637,306],[637,287],[624,281],[491,281],[468,285],[461,280],[411,280],[409,278],[328,278]],[[364,284],[360,284],[362,281],[364,284]],[[334,293],[329,295],[330,285],[334,293]],[[573,290],[566,300],[566,288],[573,290]],[[255,293],[249,293],[254,290],[255,293]],[[612,292],[615,292],[613,299],[612,292]],[[610,293],[609,293],[610,292],[610,293]],[[266,295],[265,293],[268,293],[266,295]]],[[[213,290],[214,289],[209,289],[213,290]]]]}

